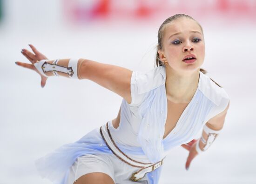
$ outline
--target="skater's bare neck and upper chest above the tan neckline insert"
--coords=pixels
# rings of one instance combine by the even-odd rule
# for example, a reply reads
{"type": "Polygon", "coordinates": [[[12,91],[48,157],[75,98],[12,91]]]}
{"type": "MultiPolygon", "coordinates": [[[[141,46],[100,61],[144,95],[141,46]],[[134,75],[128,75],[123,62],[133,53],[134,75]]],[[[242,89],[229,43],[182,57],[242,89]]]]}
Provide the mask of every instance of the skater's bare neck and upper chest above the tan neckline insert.
{"type": "Polygon", "coordinates": [[[175,104],[188,104],[193,98],[198,82],[199,69],[193,72],[177,72],[166,65],[166,96],[175,104]]]}

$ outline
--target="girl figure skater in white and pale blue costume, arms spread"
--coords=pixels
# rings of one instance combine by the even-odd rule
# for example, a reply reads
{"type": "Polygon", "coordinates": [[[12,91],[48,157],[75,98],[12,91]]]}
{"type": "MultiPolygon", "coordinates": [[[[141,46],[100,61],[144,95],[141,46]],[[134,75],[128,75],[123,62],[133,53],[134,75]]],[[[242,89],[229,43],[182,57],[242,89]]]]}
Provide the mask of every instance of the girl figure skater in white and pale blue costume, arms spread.
{"type": "Polygon", "coordinates": [[[32,64],[16,64],[40,74],[42,87],[50,76],[89,79],[123,98],[117,118],[36,161],[40,174],[54,183],[157,184],[171,148],[182,145],[189,151],[188,170],[223,127],[229,97],[200,69],[203,31],[188,15],[162,23],[158,67],[148,72],[88,59],[48,60],[30,47],[34,53],[22,53],[32,64]],[[201,128],[202,137],[193,139],[201,128]]]}

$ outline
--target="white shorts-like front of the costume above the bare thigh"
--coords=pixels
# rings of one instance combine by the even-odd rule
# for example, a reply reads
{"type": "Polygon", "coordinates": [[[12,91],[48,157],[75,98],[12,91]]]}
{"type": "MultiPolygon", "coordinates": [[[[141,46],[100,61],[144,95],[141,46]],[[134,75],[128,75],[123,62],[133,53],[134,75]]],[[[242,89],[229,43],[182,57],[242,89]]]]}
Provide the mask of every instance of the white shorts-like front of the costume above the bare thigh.
{"type": "Polygon", "coordinates": [[[148,184],[146,176],[138,182],[129,179],[139,169],[124,163],[113,154],[88,154],[77,158],[70,167],[67,184],[73,184],[79,177],[92,172],[107,174],[115,184],[148,184]]]}

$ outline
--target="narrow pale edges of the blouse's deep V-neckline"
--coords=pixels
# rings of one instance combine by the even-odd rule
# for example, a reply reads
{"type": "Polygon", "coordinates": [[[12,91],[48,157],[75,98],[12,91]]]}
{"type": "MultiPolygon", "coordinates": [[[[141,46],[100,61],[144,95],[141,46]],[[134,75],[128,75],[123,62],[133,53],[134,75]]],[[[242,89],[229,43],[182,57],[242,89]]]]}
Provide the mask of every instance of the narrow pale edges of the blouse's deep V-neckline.
{"type": "MultiPolygon", "coordinates": [[[[197,94],[197,92],[198,92],[198,90],[199,90],[199,85],[200,85],[200,81],[201,81],[201,78],[202,78],[201,75],[202,75],[201,72],[199,72],[198,85],[197,85],[196,91],[195,91],[195,93],[194,93],[192,99],[190,100],[190,102],[189,102],[189,104],[186,106],[186,108],[183,110],[183,112],[182,112],[180,118],[178,119],[178,121],[177,121],[175,127],[167,134],[167,136],[166,136],[165,138],[162,138],[162,141],[164,141],[166,138],[168,138],[168,136],[169,136],[169,135],[174,131],[174,129],[180,124],[181,118],[184,116],[185,112],[188,111],[189,106],[191,105],[192,101],[195,99],[195,96],[196,96],[196,94],[197,94]]],[[[167,99],[167,96],[166,96],[166,87],[165,87],[165,85],[164,85],[164,90],[165,90],[165,100],[166,100],[166,118],[165,118],[165,123],[164,123],[164,132],[165,132],[165,124],[167,123],[166,121],[167,121],[167,115],[168,115],[168,99],[167,99]]]]}

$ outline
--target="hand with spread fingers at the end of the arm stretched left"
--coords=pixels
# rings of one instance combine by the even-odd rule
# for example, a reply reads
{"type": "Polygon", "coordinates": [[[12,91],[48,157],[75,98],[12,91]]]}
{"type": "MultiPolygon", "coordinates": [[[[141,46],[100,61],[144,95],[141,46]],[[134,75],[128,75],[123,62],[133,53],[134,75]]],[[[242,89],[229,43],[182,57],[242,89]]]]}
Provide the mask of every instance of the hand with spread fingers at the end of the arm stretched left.
{"type": "Polygon", "coordinates": [[[22,63],[22,62],[15,62],[16,65],[18,66],[22,66],[31,70],[34,70],[35,72],[37,72],[40,76],[41,76],[41,87],[44,87],[46,84],[46,80],[47,77],[43,76],[42,74],[40,74],[40,72],[36,69],[36,67],[34,66],[34,63],[42,60],[42,59],[47,59],[47,57],[45,55],[43,55],[42,53],[40,53],[33,45],[29,44],[30,48],[32,49],[32,51],[34,53],[29,52],[27,49],[22,49],[21,53],[32,63],[32,64],[27,64],[27,63],[22,63]]]}

